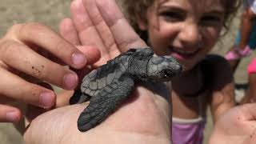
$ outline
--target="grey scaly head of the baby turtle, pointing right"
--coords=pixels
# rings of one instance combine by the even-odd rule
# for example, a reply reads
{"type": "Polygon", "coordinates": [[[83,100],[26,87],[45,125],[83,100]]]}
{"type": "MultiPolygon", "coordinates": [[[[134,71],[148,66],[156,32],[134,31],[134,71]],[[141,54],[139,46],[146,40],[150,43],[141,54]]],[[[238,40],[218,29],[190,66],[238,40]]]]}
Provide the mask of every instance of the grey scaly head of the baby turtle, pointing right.
{"type": "Polygon", "coordinates": [[[181,72],[182,66],[171,56],[152,57],[147,66],[147,76],[154,82],[170,81],[181,72]]]}

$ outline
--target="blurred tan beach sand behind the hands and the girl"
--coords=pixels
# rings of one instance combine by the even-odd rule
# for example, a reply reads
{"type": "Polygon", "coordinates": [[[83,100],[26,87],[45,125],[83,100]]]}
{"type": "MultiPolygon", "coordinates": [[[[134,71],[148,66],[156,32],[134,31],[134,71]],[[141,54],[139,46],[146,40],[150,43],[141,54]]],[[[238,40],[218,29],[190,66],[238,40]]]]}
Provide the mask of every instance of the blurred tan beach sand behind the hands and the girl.
{"type": "MultiPolygon", "coordinates": [[[[71,0],[1,0],[0,2],[0,36],[6,33],[6,30],[15,23],[22,22],[42,22],[46,26],[50,26],[53,30],[58,31],[58,22],[62,18],[70,16],[70,2],[71,0]]],[[[240,13],[231,22],[229,32],[220,38],[220,42],[214,47],[212,53],[224,55],[230,46],[234,43],[235,34],[239,27],[240,13]]],[[[255,57],[255,52],[248,58],[242,59],[238,66],[238,70],[234,74],[234,81],[237,84],[236,98],[239,100],[243,96],[243,91],[247,86],[247,72],[246,66],[251,58],[255,57]]],[[[207,118],[206,138],[212,129],[212,122],[207,118]]],[[[22,144],[22,135],[14,128],[12,124],[0,123],[0,144],[22,144]]]]}

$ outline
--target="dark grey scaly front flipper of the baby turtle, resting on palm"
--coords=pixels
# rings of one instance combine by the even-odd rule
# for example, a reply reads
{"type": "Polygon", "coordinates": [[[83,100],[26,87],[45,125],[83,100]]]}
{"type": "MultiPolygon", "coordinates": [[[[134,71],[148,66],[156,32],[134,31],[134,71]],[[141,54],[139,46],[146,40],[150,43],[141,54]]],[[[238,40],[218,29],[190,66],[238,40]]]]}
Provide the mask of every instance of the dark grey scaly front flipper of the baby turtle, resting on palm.
{"type": "Polygon", "coordinates": [[[97,126],[114,112],[116,106],[128,98],[134,87],[134,80],[129,77],[120,79],[120,81],[106,86],[99,91],[97,96],[90,99],[89,106],[82,111],[78,118],[78,130],[87,131],[97,126]]]}

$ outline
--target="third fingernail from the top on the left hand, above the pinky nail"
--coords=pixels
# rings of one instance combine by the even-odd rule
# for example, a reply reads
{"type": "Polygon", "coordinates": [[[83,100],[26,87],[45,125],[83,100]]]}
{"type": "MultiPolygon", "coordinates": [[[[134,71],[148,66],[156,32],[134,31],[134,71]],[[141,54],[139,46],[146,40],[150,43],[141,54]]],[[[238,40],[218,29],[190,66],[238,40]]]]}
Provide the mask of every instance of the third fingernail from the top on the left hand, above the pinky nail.
{"type": "Polygon", "coordinates": [[[50,108],[54,106],[54,94],[50,92],[43,92],[40,95],[40,103],[43,108],[50,108]]]}

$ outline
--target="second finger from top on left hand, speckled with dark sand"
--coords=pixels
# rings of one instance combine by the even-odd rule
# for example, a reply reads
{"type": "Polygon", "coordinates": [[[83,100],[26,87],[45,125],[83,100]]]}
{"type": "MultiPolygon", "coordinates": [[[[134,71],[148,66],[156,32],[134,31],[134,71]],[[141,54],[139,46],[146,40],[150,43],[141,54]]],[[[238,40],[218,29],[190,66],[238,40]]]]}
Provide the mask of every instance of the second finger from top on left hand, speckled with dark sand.
{"type": "Polygon", "coordinates": [[[73,71],[51,62],[25,45],[6,41],[2,45],[0,44],[0,47],[2,62],[15,70],[66,90],[73,90],[78,84],[78,76],[73,71]]]}

